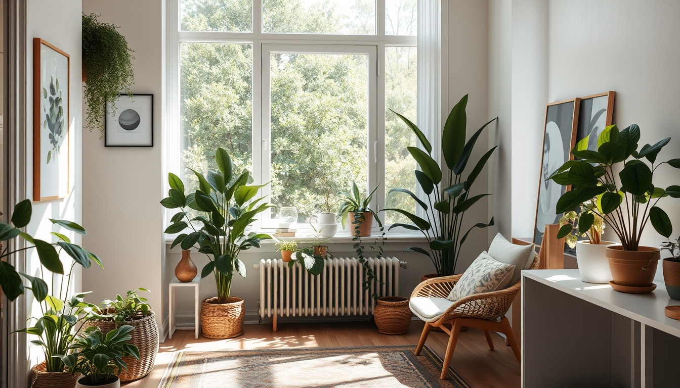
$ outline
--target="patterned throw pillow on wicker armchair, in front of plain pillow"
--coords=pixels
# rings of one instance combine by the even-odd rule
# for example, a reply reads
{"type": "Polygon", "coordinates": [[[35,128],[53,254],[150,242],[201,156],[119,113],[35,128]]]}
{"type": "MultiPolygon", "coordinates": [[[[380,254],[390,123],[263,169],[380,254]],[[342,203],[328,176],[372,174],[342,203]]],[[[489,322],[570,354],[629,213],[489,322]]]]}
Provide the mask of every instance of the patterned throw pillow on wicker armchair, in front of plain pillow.
{"type": "Polygon", "coordinates": [[[503,289],[512,278],[515,266],[498,262],[483,251],[456,283],[449,294],[449,300],[456,301],[481,292],[503,289]]]}

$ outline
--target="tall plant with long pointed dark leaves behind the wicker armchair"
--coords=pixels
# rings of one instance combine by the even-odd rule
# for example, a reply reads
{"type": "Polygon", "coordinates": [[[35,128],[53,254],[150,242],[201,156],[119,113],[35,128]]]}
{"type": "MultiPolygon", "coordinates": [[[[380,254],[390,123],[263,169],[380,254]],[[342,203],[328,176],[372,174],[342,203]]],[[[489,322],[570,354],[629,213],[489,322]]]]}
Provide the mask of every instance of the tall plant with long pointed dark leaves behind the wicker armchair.
{"type": "Polygon", "coordinates": [[[491,154],[498,147],[496,145],[486,152],[486,154],[479,158],[472,171],[466,177],[463,177],[465,167],[473,152],[477,138],[486,126],[498,119],[494,118],[481,126],[470,137],[469,141],[465,142],[467,125],[465,108],[467,101],[468,95],[466,94],[449,113],[442,131],[441,150],[446,167],[449,170],[446,174],[448,176],[444,175],[445,170],[432,158],[432,145],[418,126],[415,126],[409,119],[393,111],[396,116],[401,118],[413,130],[413,133],[418,137],[424,148],[423,150],[418,147],[407,147],[411,156],[420,166],[420,170],[415,171],[415,178],[418,179],[420,187],[427,196],[427,203],[418,198],[410,190],[401,188],[391,189],[388,194],[402,193],[411,196],[424,211],[426,219],[403,209],[384,209],[383,211],[401,213],[413,223],[392,224],[388,230],[401,227],[422,232],[428,241],[429,251],[420,247],[411,247],[407,250],[428,256],[432,260],[432,264],[435,264],[437,274],[441,276],[454,274],[456,263],[460,256],[460,248],[473,228],[487,228],[494,224],[494,217],[491,217],[488,224],[481,222],[475,224],[475,226],[461,236],[465,212],[475,205],[478,200],[490,195],[478,194],[471,196],[471,189],[475,179],[477,179],[477,176],[479,176],[479,173],[481,173],[481,170],[486,165],[487,160],[489,160],[491,154]]]}

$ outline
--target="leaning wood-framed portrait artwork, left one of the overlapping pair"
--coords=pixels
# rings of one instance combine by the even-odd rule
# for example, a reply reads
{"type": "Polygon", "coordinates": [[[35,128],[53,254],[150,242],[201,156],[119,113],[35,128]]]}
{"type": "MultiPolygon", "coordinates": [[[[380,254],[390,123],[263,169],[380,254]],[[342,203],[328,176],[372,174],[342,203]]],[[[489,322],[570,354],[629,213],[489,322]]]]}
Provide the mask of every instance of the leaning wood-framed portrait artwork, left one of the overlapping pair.
{"type": "Polygon", "coordinates": [[[569,188],[547,178],[571,159],[571,149],[576,143],[580,102],[581,99],[571,99],[549,103],[545,107],[539,198],[534,221],[533,242],[536,245],[543,243],[545,226],[557,224],[561,217],[555,211],[557,201],[569,188]]]}

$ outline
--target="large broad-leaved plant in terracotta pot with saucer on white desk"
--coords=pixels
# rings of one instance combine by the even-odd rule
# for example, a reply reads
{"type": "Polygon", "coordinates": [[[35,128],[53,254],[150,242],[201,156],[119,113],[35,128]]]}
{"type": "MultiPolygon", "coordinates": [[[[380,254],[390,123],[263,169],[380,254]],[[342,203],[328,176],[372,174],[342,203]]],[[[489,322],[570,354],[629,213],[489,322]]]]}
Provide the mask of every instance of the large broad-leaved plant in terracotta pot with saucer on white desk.
{"type": "Polygon", "coordinates": [[[581,216],[580,230],[590,229],[594,215],[598,215],[621,241],[621,245],[607,247],[611,286],[621,292],[647,294],[656,287],[652,281],[661,255],[656,247],[640,245],[642,232],[650,222],[659,234],[668,238],[673,225],[657,204],[668,196],[680,198],[680,186],[657,187],[653,173],[662,164],[679,169],[680,159],[656,160],[670,137],[654,145],[645,144],[638,151],[639,140],[640,128],[636,124],[620,132],[617,126],[608,126],[598,137],[597,151],[587,149],[586,137],[571,152],[579,160],[564,163],[548,179],[571,185],[571,191],[558,200],[557,213],[580,205],[592,214],[581,216]],[[615,166],[619,163],[624,166],[616,174],[615,166]],[[592,198],[596,200],[591,201],[592,198]]]}

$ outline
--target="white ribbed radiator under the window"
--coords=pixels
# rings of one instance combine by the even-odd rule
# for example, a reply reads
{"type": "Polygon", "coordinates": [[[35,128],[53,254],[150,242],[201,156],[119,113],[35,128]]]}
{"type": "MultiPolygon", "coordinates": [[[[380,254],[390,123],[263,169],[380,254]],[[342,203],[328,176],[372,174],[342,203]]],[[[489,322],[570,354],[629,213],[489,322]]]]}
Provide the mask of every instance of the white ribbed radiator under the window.
{"type": "Polygon", "coordinates": [[[398,296],[399,268],[405,262],[396,258],[369,258],[369,266],[379,282],[371,282],[364,291],[366,268],[356,258],[326,259],[324,272],[309,275],[300,264],[288,268],[281,259],[262,259],[260,270],[260,317],[320,317],[343,315],[369,315],[373,313],[379,296],[398,296]],[[377,288],[377,289],[376,289],[377,288]]]}

